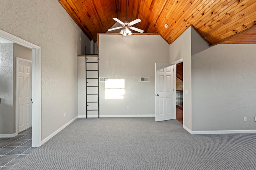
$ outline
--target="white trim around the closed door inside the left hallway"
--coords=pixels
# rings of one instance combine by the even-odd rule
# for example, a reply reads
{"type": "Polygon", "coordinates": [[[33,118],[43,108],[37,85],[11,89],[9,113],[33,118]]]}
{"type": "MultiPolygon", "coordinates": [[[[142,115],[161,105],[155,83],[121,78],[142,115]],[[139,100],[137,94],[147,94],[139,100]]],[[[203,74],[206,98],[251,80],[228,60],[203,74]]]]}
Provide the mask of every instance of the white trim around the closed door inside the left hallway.
{"type": "MultiPolygon", "coordinates": [[[[15,95],[15,100],[16,100],[16,104],[15,104],[15,124],[16,124],[16,135],[19,134],[19,121],[18,121],[18,108],[19,108],[19,103],[20,103],[20,100],[19,100],[19,91],[18,91],[18,87],[19,87],[19,64],[20,64],[20,61],[23,61],[23,62],[26,62],[26,63],[30,63],[32,65],[32,61],[31,60],[27,60],[27,59],[22,59],[20,57],[16,57],[16,95],[15,95]]],[[[31,73],[32,74],[32,73],[31,73]]],[[[15,135],[15,136],[16,136],[15,135]]]]}

